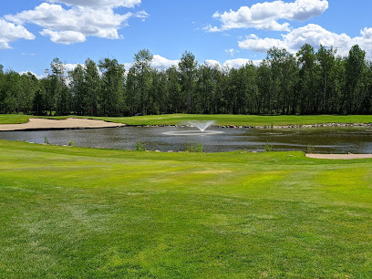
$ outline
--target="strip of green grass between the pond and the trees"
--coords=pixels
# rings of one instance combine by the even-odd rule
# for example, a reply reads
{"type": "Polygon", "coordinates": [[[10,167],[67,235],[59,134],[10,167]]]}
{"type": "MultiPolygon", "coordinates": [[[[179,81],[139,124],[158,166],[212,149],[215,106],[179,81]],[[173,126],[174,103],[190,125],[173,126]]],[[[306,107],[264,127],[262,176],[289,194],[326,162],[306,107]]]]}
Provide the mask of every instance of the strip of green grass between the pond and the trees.
{"type": "MultiPolygon", "coordinates": [[[[77,117],[85,119],[102,119],[129,125],[180,125],[190,121],[214,120],[216,125],[236,126],[275,126],[275,125],[309,125],[323,123],[372,123],[372,115],[317,115],[317,116],[255,116],[255,115],[197,115],[167,114],[128,118],[77,117]]],[[[16,124],[26,122],[34,116],[0,115],[0,124],[16,124]]],[[[43,117],[47,119],[67,119],[67,117],[43,117]]]]}

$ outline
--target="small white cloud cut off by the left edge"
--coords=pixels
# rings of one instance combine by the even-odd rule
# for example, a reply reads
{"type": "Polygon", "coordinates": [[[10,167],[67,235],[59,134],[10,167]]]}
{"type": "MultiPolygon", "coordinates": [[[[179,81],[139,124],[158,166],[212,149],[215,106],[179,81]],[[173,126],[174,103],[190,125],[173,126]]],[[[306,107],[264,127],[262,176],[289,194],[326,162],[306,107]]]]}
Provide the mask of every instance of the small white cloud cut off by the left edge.
{"type": "Polygon", "coordinates": [[[9,43],[19,39],[33,40],[35,35],[28,32],[24,26],[16,26],[0,18],[0,49],[12,48],[9,43]]]}

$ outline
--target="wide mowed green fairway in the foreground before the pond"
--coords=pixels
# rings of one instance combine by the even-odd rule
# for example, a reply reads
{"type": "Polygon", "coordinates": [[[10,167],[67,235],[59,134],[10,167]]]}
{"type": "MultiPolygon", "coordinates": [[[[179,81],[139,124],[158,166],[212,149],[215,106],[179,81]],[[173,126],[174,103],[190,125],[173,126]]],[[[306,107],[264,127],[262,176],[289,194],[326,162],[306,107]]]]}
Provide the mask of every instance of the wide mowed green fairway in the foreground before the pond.
{"type": "Polygon", "coordinates": [[[372,160],[0,140],[0,277],[372,277],[372,160]]]}

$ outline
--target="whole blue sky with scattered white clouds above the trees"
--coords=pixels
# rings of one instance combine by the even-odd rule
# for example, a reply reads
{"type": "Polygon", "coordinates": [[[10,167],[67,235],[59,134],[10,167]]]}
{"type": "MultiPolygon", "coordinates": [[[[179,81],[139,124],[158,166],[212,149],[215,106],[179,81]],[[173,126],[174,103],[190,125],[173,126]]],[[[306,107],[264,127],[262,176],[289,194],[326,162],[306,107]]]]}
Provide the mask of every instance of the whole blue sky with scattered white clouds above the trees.
{"type": "Polygon", "coordinates": [[[67,68],[115,57],[127,67],[141,48],[155,67],[177,64],[185,50],[200,63],[258,63],[268,48],[295,53],[305,43],[358,44],[372,59],[372,2],[367,0],[175,1],[19,0],[0,7],[0,64],[41,76],[54,57],[67,68]],[[10,4],[11,3],[11,4],[10,4]]]}

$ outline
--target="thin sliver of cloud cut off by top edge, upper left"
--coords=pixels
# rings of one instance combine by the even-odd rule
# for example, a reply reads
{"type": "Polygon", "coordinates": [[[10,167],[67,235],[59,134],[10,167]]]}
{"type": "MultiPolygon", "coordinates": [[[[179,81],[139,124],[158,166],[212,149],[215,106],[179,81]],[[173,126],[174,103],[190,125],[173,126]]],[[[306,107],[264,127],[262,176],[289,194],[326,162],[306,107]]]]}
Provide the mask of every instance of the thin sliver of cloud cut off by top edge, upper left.
{"type": "Polygon", "coordinates": [[[134,7],[135,5],[140,5],[141,0],[47,0],[47,2],[101,8],[117,6],[134,7]]]}

